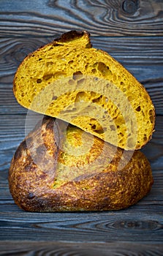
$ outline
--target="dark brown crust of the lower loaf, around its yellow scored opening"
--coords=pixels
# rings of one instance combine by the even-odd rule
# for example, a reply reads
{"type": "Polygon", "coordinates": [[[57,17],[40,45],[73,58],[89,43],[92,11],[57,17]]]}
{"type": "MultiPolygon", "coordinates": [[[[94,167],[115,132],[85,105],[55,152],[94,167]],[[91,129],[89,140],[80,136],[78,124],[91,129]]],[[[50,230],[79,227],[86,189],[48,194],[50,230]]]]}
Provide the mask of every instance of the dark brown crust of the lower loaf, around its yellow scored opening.
{"type": "MultiPolygon", "coordinates": [[[[123,154],[120,148],[105,170],[77,177],[54,189],[58,143],[61,143],[59,127],[53,118],[46,117],[41,138],[39,129],[40,124],[20,143],[10,166],[10,192],[20,208],[26,211],[117,210],[132,206],[150,191],[153,178],[148,160],[143,153],[135,151],[128,164],[117,170],[123,154]]],[[[94,141],[96,151],[103,141],[99,138],[94,141]]],[[[112,152],[113,146],[107,143],[105,157],[112,152]]]]}

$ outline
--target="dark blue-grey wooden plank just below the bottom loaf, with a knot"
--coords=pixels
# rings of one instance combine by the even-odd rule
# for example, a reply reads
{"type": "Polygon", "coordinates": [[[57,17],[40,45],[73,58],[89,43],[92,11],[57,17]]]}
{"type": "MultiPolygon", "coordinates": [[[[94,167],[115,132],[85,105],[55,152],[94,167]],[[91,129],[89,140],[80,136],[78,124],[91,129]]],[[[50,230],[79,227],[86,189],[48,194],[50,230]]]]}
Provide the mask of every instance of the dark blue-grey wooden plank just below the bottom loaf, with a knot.
{"type": "MultiPolygon", "coordinates": [[[[0,205],[1,208],[1,205],[0,205]]],[[[161,212],[141,214],[135,208],[128,211],[83,213],[29,213],[8,211],[0,213],[0,240],[6,241],[128,241],[162,244],[161,212]],[[123,236],[122,236],[123,233],[123,236]]]]}

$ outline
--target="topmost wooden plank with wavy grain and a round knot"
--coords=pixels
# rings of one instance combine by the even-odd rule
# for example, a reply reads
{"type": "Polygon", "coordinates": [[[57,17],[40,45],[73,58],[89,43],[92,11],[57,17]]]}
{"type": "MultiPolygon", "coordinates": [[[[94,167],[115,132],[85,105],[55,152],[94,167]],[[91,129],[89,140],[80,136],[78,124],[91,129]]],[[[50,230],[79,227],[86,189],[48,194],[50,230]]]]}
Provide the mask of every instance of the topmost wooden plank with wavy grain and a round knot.
{"type": "Polygon", "coordinates": [[[163,35],[159,0],[1,0],[0,36],[50,36],[72,29],[94,36],[163,35]]]}

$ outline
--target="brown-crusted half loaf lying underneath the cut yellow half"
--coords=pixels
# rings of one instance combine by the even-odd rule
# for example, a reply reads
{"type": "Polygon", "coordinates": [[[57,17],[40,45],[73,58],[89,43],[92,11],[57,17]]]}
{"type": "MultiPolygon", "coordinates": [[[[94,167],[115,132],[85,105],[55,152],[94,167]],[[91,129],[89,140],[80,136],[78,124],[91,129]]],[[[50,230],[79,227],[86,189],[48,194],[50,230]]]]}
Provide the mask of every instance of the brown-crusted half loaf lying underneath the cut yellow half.
{"type": "Polygon", "coordinates": [[[26,211],[126,208],[147,195],[153,184],[145,155],[129,153],[45,116],[15,152],[10,192],[26,211]]]}

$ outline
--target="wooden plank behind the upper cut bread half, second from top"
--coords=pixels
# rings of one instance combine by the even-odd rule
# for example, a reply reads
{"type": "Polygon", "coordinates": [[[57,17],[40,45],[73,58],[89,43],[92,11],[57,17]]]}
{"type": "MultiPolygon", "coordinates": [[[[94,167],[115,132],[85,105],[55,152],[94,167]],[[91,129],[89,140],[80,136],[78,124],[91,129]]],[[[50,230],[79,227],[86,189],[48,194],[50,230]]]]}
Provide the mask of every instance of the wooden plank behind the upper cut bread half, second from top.
{"type": "MultiPolygon", "coordinates": [[[[94,48],[110,53],[121,62],[145,88],[153,100],[156,114],[163,105],[163,37],[91,37],[94,48]]],[[[0,113],[26,113],[12,93],[12,80],[20,62],[31,51],[53,37],[8,37],[0,39],[0,113]],[[4,108],[5,106],[5,108],[4,108]]]]}

